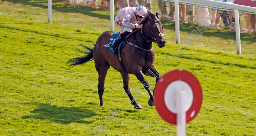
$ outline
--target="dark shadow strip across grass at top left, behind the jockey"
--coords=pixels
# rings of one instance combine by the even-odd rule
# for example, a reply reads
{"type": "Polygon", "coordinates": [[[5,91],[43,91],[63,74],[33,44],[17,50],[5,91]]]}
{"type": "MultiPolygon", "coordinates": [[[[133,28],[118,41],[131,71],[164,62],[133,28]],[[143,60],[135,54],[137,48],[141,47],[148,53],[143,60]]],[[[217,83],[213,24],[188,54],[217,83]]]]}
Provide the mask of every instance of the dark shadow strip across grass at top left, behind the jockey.
{"type": "MultiPolygon", "coordinates": [[[[12,3],[20,3],[22,5],[29,5],[32,7],[39,7],[39,8],[48,8],[47,0],[41,0],[41,1],[30,1],[30,0],[5,0],[7,2],[12,3]]],[[[81,5],[70,5],[68,3],[63,2],[52,2],[52,10],[57,12],[65,12],[65,13],[81,13],[84,15],[89,15],[92,17],[98,17],[102,19],[109,19],[110,15],[102,15],[95,13],[94,11],[102,11],[101,9],[95,9],[95,8],[88,8],[81,5]]]]}

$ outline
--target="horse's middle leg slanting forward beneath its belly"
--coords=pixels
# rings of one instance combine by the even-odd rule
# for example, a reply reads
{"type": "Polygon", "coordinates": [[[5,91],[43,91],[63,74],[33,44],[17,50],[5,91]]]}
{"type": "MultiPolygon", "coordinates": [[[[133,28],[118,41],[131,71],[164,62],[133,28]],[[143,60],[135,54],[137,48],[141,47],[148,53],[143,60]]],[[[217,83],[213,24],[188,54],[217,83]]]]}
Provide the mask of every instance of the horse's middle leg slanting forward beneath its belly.
{"type": "MultiPolygon", "coordinates": [[[[134,109],[141,109],[140,104],[137,103],[137,101],[133,98],[133,95],[130,91],[130,75],[120,72],[122,77],[123,77],[123,89],[126,92],[126,94],[128,95],[128,97],[130,98],[131,104],[134,105],[134,109]]],[[[126,102],[125,98],[124,101],[126,102]]],[[[127,103],[127,102],[126,102],[127,103]]]]}

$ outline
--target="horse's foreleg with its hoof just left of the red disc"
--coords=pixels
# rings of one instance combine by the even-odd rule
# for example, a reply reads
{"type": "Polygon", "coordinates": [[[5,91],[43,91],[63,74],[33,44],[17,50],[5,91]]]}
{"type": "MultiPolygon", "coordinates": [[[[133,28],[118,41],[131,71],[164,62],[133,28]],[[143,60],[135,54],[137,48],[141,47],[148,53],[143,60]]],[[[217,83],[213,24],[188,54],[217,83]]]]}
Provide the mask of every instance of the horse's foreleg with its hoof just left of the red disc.
{"type": "Polygon", "coordinates": [[[154,104],[154,96],[150,91],[150,84],[148,83],[148,81],[144,78],[142,71],[136,71],[134,72],[134,75],[137,77],[137,79],[142,83],[142,85],[144,86],[144,88],[148,91],[149,97],[150,99],[148,100],[148,104],[149,106],[155,106],[154,104]]]}

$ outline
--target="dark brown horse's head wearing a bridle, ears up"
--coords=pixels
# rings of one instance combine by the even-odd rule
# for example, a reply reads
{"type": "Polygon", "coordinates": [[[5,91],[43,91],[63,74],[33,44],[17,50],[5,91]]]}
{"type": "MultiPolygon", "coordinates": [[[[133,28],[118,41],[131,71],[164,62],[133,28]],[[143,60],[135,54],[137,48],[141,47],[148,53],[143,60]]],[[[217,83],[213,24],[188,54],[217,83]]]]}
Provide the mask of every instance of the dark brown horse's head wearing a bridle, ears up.
{"type": "Polygon", "coordinates": [[[159,21],[159,14],[156,13],[156,15],[154,15],[153,13],[148,12],[148,15],[145,18],[144,22],[141,23],[144,23],[144,31],[148,31],[147,38],[158,44],[159,48],[165,47],[166,41],[163,34],[164,26],[159,21]]]}

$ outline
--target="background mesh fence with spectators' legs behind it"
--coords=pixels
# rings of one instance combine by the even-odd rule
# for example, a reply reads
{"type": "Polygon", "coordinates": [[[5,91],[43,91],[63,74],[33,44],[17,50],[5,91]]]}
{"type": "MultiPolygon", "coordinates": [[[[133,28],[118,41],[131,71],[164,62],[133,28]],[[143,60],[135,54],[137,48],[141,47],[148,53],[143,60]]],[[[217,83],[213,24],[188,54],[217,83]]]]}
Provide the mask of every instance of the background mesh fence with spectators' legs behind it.
{"type": "MultiPolygon", "coordinates": [[[[92,8],[100,8],[109,10],[109,0],[53,0],[53,2],[71,2],[71,4],[80,4],[92,8]]],[[[151,5],[147,4],[147,0],[114,0],[115,10],[119,10],[126,6],[138,6],[144,5],[146,7],[152,7],[152,12],[158,12],[161,19],[173,22],[175,21],[174,0],[151,0],[151,5]]],[[[179,17],[181,23],[199,24],[209,14],[218,13],[214,17],[210,18],[215,20],[210,25],[210,28],[227,29],[234,31],[235,19],[233,9],[221,9],[212,10],[212,7],[203,4],[196,4],[192,2],[179,2],[179,17]]],[[[240,32],[242,33],[255,33],[255,13],[239,11],[240,16],[240,32]]]]}

